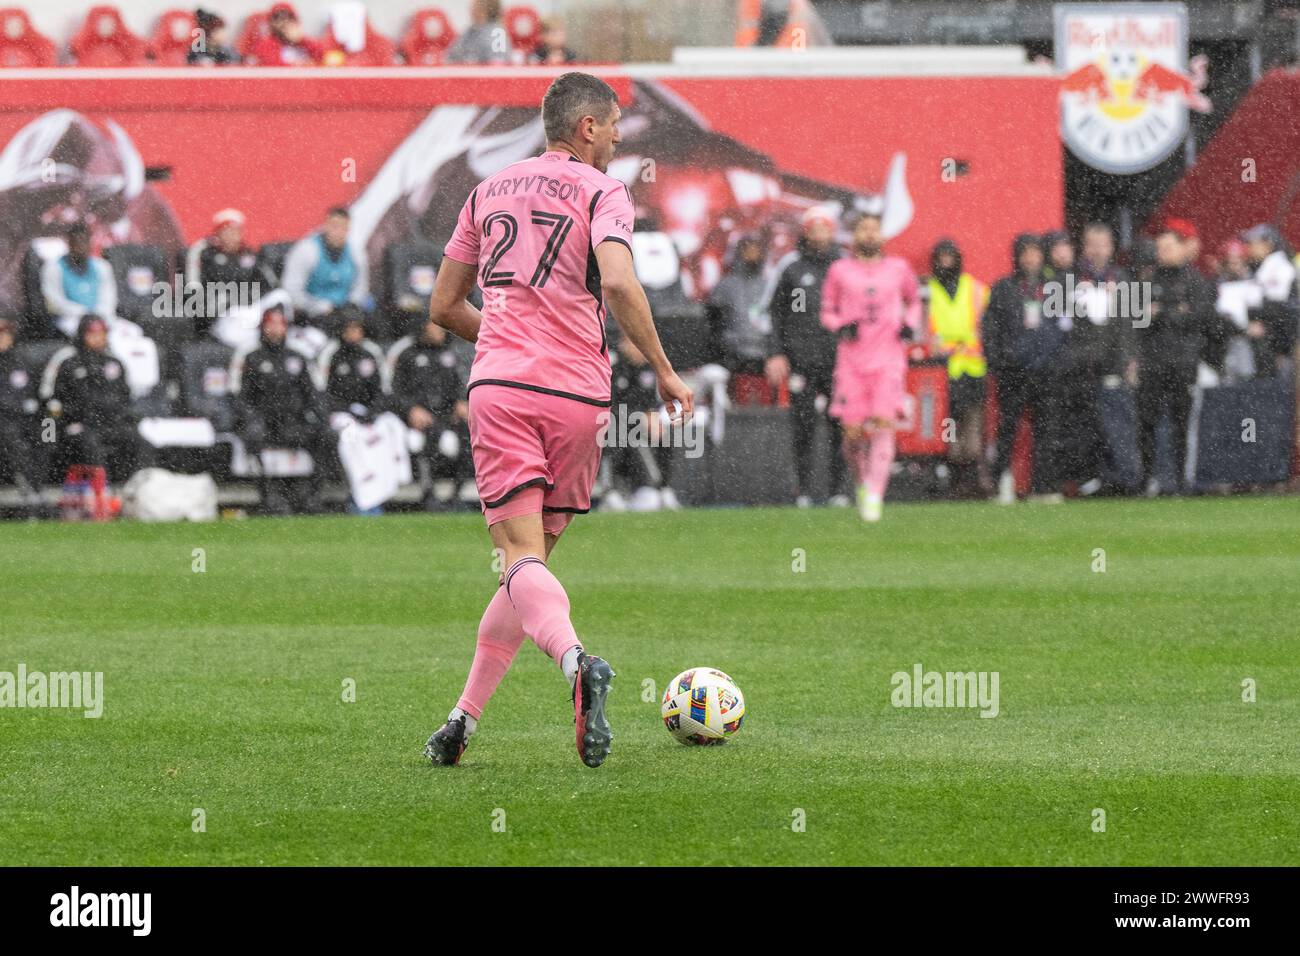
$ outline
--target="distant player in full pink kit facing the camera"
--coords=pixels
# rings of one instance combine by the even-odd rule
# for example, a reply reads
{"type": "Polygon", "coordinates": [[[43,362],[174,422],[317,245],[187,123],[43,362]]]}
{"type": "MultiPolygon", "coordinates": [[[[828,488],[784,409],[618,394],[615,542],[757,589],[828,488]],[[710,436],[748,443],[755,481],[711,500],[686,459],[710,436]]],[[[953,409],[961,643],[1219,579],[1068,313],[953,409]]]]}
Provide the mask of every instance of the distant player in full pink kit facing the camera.
{"type": "Polygon", "coordinates": [[[883,252],[880,217],[853,228],[853,255],[835,261],[822,286],[822,325],[838,336],[831,414],[844,427],[844,457],[858,479],[858,514],[879,522],[894,427],[906,402],[907,342],[920,332],[911,267],[883,252]]]}

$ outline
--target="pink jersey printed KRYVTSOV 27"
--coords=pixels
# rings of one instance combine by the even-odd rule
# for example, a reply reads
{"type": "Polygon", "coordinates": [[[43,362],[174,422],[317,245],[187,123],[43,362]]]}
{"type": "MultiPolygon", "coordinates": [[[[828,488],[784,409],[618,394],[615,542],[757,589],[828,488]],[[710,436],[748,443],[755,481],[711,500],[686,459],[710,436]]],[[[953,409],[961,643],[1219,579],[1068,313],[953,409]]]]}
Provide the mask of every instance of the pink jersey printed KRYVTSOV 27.
{"type": "Polygon", "coordinates": [[[562,150],[474,187],[445,254],[478,267],[484,320],[469,388],[525,386],[610,402],[610,351],[595,247],[630,250],[632,194],[562,150]]]}

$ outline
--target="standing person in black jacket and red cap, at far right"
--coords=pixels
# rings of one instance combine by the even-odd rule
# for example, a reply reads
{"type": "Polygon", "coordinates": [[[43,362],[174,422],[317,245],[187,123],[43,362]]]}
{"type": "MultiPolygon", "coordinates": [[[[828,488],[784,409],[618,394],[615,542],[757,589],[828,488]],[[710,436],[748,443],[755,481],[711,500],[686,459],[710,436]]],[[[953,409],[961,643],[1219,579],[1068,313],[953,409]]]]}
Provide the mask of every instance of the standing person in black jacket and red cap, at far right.
{"type": "Polygon", "coordinates": [[[1138,450],[1148,494],[1162,490],[1156,477],[1156,429],[1166,410],[1174,425],[1175,483],[1180,486],[1184,481],[1196,365],[1206,343],[1226,333],[1214,303],[1213,286],[1187,261],[1179,235],[1165,229],[1156,237],[1150,324],[1136,329],[1138,450]]]}

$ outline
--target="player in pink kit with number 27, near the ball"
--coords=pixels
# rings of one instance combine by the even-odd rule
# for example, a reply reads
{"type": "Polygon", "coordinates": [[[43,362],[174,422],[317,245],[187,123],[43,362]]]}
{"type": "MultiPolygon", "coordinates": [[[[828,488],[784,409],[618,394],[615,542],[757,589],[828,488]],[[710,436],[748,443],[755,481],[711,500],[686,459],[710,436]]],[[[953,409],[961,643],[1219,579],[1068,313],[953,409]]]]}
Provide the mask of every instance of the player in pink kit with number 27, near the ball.
{"type": "Polygon", "coordinates": [[[469,194],[429,302],[433,321],[476,342],[469,445],[488,532],[506,563],[464,692],[425,745],[434,763],[460,761],[525,635],[569,682],[582,762],[595,767],[610,753],[604,701],[614,671],[584,650],[568,594],[546,566],[572,516],[592,506],[610,407],[606,302],[649,359],[673,418],[694,410],[633,271],[630,193],[604,172],[619,114],[604,81],[558,77],[542,100],[546,151],[469,194]],[[465,300],[476,282],[481,312],[465,300]]]}

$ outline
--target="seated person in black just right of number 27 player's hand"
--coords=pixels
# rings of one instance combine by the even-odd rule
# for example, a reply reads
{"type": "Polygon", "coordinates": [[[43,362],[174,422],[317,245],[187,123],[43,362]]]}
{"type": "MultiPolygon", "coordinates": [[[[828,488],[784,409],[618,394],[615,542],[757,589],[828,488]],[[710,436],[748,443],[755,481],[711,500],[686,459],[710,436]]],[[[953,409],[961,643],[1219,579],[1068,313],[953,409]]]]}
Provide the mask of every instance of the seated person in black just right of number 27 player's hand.
{"type": "MultiPolygon", "coordinates": [[[[630,501],[633,511],[658,511],[664,507],[676,511],[681,507],[668,484],[672,447],[664,441],[666,425],[659,416],[659,392],[655,382],[654,369],[650,368],[646,356],[632,339],[620,336],[611,378],[610,432],[618,429],[616,419],[612,416],[644,415],[645,444],[629,441],[625,445],[607,447],[604,454],[610,459],[614,477],[621,479],[634,489],[630,501]]],[[[633,431],[632,421],[636,419],[628,424],[629,434],[633,431]]],[[[616,488],[611,488],[601,501],[601,507],[621,511],[628,507],[628,502],[616,488]]]]}

